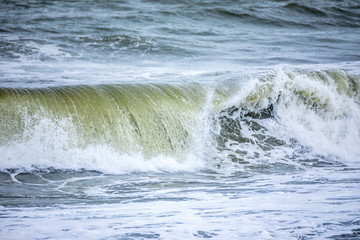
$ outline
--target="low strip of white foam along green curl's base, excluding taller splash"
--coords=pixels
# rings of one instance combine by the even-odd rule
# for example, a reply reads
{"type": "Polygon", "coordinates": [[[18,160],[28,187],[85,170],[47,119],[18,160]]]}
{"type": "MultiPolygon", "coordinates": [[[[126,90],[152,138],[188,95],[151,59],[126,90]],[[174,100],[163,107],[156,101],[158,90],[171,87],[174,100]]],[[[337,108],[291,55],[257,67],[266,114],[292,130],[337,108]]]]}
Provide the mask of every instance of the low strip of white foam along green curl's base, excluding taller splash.
{"type": "Polygon", "coordinates": [[[53,146],[31,141],[1,146],[1,168],[87,169],[122,174],[147,171],[195,171],[205,166],[202,159],[190,154],[183,159],[165,155],[146,159],[141,153],[119,153],[106,145],[70,149],[62,149],[59,145],[56,148],[53,146]]]}

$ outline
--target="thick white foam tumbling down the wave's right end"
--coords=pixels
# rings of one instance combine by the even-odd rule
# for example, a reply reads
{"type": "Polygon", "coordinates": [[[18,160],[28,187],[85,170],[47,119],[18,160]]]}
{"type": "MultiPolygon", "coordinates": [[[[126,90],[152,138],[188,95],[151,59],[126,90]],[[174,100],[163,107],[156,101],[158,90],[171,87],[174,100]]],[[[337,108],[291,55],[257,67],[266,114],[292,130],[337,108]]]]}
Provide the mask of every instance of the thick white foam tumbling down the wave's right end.
{"type": "Polygon", "coordinates": [[[358,161],[360,157],[360,107],[352,97],[340,94],[335,84],[327,84],[297,73],[293,79],[282,70],[276,82],[281,97],[276,119],[282,136],[295,138],[321,155],[358,161]],[[297,92],[306,92],[311,100],[325,106],[324,112],[304,103],[297,92]]]}

